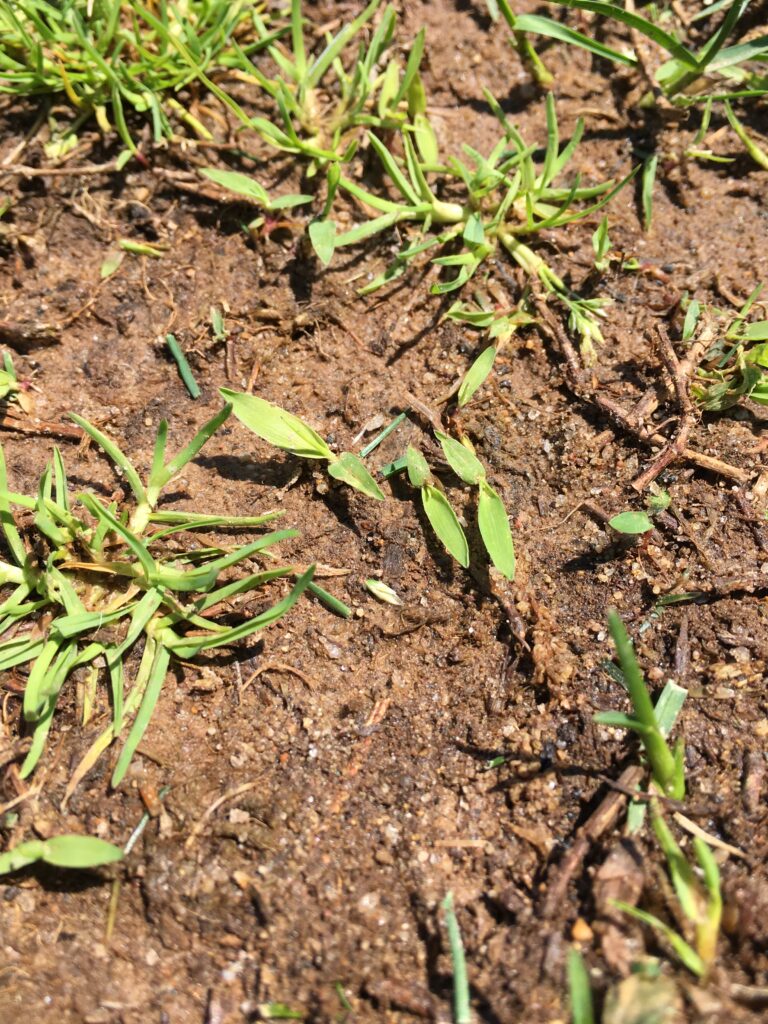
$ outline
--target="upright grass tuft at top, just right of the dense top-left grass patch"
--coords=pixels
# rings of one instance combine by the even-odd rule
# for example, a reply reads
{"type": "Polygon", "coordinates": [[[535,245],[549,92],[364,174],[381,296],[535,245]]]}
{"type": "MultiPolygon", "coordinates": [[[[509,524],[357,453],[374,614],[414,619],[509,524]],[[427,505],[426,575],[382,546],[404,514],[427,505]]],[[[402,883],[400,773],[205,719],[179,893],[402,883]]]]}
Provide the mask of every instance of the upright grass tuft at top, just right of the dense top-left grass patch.
{"type": "Polygon", "coordinates": [[[407,119],[403,109],[412,88],[419,88],[418,70],[424,51],[424,32],[419,33],[404,71],[391,58],[382,68],[397,16],[387,6],[368,45],[360,42],[347,70],[343,56],[371,24],[382,5],[372,0],[335,36],[327,36],[316,57],[308,53],[304,36],[301,0],[291,0],[290,48],[274,38],[268,25],[254,12],[259,41],[265,45],[276,75],[268,77],[259,67],[243,61],[243,76],[255,81],[275,102],[278,123],[253,118],[251,125],[284,153],[310,161],[309,174],[354,154],[360,128],[391,130],[407,119]],[[331,78],[331,82],[327,82],[331,78]]]}

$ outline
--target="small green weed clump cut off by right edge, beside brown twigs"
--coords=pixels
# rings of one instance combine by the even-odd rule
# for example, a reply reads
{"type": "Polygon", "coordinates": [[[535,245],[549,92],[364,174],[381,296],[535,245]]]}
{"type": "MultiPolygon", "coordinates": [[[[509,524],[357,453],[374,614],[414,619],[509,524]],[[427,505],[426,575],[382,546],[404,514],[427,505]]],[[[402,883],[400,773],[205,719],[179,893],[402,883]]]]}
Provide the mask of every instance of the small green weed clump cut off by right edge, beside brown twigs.
{"type": "Polygon", "coordinates": [[[683,339],[690,340],[702,319],[716,336],[691,388],[706,412],[721,413],[744,398],[768,404],[768,319],[748,319],[762,287],[753,291],[735,316],[695,300],[688,305],[683,339]]]}

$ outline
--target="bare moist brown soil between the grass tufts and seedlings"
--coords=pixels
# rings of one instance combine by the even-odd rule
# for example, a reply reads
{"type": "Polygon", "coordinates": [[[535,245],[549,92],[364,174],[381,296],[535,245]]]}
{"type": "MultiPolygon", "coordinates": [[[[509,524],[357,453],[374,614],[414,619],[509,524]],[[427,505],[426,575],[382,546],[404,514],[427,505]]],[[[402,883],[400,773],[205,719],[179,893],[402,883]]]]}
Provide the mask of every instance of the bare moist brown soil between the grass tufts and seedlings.
{"type": "MultiPolygon", "coordinates": [[[[341,9],[317,6],[318,23],[341,9]]],[[[483,86],[505,99],[526,137],[543,138],[542,98],[482,9],[407,4],[400,38],[428,27],[427,85],[446,150],[496,139],[483,86]]],[[[593,180],[626,173],[645,129],[628,120],[624,77],[579,52],[559,50],[557,63],[562,136],[580,113],[587,117],[577,170],[593,180]]],[[[34,117],[6,106],[0,158],[34,117]]],[[[666,133],[672,152],[676,134],[666,133]]],[[[110,158],[95,136],[84,140],[86,162],[110,158]]],[[[31,143],[25,163],[42,159],[31,143]]],[[[298,232],[251,243],[239,228],[243,208],[180,191],[155,173],[183,168],[183,155],[156,153],[152,162],[87,177],[0,171],[16,199],[0,318],[63,325],[58,344],[14,354],[34,382],[39,417],[61,422],[74,410],[146,467],[160,418],[181,443],[219,408],[218,386],[243,387],[256,372],[259,394],[348,447],[369,420],[401,408],[408,391],[434,402],[478,350],[477,334],[439,322],[438,302],[417,275],[383,298],[355,296],[355,283],[381,269],[381,248],[341,254],[318,270],[302,256],[298,232]],[[127,258],[99,282],[121,237],[170,248],[158,261],[127,258]],[[210,306],[221,303],[233,358],[207,328],[210,306]],[[190,353],[203,388],[197,402],[156,343],[170,329],[190,353]]],[[[270,159],[258,172],[285,186],[287,169],[270,159]]],[[[649,332],[659,318],[679,329],[684,291],[726,305],[724,296],[743,299],[768,280],[765,172],[742,158],[670,163],[665,181],[648,234],[631,190],[611,207],[614,246],[647,272],[610,272],[601,286],[614,304],[594,383],[628,409],[659,378],[649,332]]],[[[594,226],[545,242],[577,283],[590,266],[594,226]]],[[[498,271],[509,284],[506,268],[498,271]]],[[[102,695],[100,718],[84,731],[74,698],[62,702],[34,779],[42,791],[18,807],[8,844],[70,830],[122,844],[143,812],[139,785],[170,791],[163,815],[115,872],[122,884],[111,940],[109,879],[34,871],[0,887],[1,1020],[221,1024],[258,1019],[259,1005],[273,1000],[308,1021],[447,1020],[451,963],[438,905],[449,890],[478,1020],[565,1020],[573,934],[600,996],[630,958],[659,952],[650,933],[611,922],[603,899],[611,864],[621,861],[625,888],[644,885],[643,905],[655,901],[665,912],[659,853],[647,840],[623,838],[622,817],[547,904],[580,825],[610,792],[606,779],[638,758],[624,734],[592,721],[597,710],[625,707],[601,668],[611,655],[611,605],[654,684],[675,677],[689,688],[686,813],[745,854],[721,865],[726,928],[708,985],[665,958],[684,997],[679,1019],[765,1019],[764,494],[758,487],[754,506],[739,505],[732,481],[679,462],[663,482],[680,522],[668,517],[647,543],[616,543],[600,512],[640,507],[629,484],[649,451],[568,390],[558,352],[538,330],[510,345],[462,424],[513,510],[519,575],[514,588],[495,585],[497,596],[482,573],[461,571],[435,547],[406,488],[374,505],[234,421],[177,481],[174,501],[197,510],[247,514],[279,503],[286,524],[301,529],[286,554],[347,570],[328,585],[355,614],[342,621],[304,601],[247,650],[175,670],[123,786],[109,791],[104,758],[65,813],[72,767],[109,708],[102,695]],[[403,609],[367,594],[362,581],[377,572],[403,609]],[[653,613],[656,595],[686,588],[709,596],[653,613]],[[256,669],[264,671],[250,682],[256,669]],[[500,754],[507,763],[484,770],[500,754]],[[207,808],[238,787],[187,843],[207,808]]],[[[697,422],[691,446],[754,481],[764,430],[760,409],[739,408],[697,422]]],[[[385,443],[381,462],[409,437],[428,443],[415,421],[385,443]]],[[[53,440],[14,431],[2,439],[11,485],[35,488],[53,440]]],[[[114,489],[94,451],[81,456],[60,443],[79,485],[114,489]]],[[[11,738],[18,705],[9,688],[11,738]]],[[[16,797],[18,784],[6,771],[2,800],[16,797]]]]}

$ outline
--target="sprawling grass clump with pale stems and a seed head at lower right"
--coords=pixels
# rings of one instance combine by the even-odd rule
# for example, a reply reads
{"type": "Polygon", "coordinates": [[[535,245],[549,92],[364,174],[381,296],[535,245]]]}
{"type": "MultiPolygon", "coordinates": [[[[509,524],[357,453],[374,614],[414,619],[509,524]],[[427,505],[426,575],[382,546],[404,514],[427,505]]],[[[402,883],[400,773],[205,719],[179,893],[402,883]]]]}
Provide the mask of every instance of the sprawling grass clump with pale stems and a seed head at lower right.
{"type": "Polygon", "coordinates": [[[403,161],[369,134],[371,146],[398,198],[368,191],[341,175],[339,188],[377,215],[349,230],[334,230],[324,239],[326,245],[318,256],[328,262],[335,249],[357,245],[397,224],[415,223],[418,236],[408,241],[384,273],[362,288],[360,294],[370,294],[390,283],[428,250],[453,249],[432,261],[435,266],[455,271],[432,286],[433,294],[444,295],[463,288],[501,249],[566,307],[571,330],[579,334],[586,351],[592,352],[594,343],[602,341],[599,317],[604,315],[605,300],[574,295],[523,240],[591,216],[624,187],[632,174],[618,183],[605,181],[582,187],[577,180],[569,187],[556,186],[555,180],[582,138],[584,123],[578,123],[570,141],[560,151],[555,101],[548,94],[547,147],[543,167],[538,170],[534,161],[537,147],[526,144],[494,97],[487,92],[485,96],[504,135],[487,157],[464,145],[469,163],[456,157],[440,162],[426,114],[420,127],[410,126],[402,133],[403,161]],[[458,201],[437,198],[445,193],[462,195],[458,201]]]}

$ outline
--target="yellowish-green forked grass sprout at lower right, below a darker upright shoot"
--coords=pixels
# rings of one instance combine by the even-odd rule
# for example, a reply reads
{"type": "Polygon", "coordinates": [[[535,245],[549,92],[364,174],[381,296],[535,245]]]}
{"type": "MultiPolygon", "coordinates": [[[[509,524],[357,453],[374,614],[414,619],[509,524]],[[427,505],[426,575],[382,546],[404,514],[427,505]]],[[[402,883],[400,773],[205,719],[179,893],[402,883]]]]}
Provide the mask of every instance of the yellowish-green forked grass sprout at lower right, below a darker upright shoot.
{"type": "Polygon", "coordinates": [[[650,802],[650,816],[662,850],[667,858],[672,884],[680,909],[693,930],[693,943],[689,943],[655,914],[648,913],[621,900],[613,904],[636,921],[649,925],[664,936],[675,954],[697,977],[705,977],[717,953],[718,934],[723,912],[720,888],[720,870],[707,843],[699,837],[693,839],[693,853],[701,879],[688,862],[667,824],[657,800],[650,802]]]}

